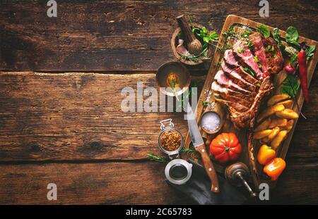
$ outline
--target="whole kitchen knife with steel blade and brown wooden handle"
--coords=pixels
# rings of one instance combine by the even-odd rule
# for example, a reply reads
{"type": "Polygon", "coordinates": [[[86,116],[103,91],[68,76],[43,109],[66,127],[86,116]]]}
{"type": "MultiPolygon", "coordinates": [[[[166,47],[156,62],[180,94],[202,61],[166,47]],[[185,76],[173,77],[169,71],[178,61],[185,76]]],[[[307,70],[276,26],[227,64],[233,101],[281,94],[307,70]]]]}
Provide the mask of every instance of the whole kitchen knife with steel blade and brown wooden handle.
{"type": "Polygon", "coordinates": [[[201,154],[202,162],[204,163],[204,169],[206,174],[211,180],[211,191],[220,192],[220,187],[218,185],[218,175],[216,174],[216,169],[206,152],[206,145],[204,144],[204,139],[202,138],[201,132],[199,130],[198,123],[196,123],[196,118],[192,111],[192,107],[187,103],[187,123],[189,127],[189,135],[192,140],[192,144],[196,151],[201,154]]]}

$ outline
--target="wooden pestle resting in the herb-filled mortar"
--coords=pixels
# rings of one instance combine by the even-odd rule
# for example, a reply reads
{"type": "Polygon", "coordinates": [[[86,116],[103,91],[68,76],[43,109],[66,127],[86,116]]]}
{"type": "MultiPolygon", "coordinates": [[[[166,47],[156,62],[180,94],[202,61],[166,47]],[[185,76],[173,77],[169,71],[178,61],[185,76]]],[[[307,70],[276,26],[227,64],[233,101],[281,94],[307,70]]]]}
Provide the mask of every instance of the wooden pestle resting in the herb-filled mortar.
{"type": "Polygon", "coordinates": [[[181,28],[182,35],[184,37],[185,42],[187,43],[187,48],[189,53],[195,56],[199,56],[203,49],[202,44],[199,39],[196,39],[192,29],[187,22],[187,19],[184,18],[184,15],[179,15],[176,18],[179,27],[181,28]]]}

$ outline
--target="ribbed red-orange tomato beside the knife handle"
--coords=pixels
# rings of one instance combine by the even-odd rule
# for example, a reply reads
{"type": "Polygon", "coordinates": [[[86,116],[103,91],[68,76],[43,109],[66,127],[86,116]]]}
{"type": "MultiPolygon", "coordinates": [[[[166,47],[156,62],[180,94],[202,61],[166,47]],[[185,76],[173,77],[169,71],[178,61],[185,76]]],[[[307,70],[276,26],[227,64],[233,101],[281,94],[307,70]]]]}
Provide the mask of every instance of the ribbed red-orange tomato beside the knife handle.
{"type": "Polygon", "coordinates": [[[232,132],[219,134],[210,144],[210,153],[220,163],[237,160],[241,151],[242,145],[232,132]]]}

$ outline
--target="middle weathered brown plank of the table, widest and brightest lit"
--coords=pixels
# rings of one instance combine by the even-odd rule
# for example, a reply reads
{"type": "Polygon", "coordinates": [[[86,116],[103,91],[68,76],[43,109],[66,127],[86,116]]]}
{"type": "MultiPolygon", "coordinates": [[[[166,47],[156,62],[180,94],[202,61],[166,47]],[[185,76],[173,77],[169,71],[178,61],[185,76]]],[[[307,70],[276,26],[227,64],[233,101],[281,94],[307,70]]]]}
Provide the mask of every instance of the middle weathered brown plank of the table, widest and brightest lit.
{"type": "Polygon", "coordinates": [[[155,87],[155,74],[0,73],[0,161],[160,153],[159,121],[172,118],[184,134],[187,124],[182,113],[124,113],[122,89],[136,89],[137,82],[155,87]]]}

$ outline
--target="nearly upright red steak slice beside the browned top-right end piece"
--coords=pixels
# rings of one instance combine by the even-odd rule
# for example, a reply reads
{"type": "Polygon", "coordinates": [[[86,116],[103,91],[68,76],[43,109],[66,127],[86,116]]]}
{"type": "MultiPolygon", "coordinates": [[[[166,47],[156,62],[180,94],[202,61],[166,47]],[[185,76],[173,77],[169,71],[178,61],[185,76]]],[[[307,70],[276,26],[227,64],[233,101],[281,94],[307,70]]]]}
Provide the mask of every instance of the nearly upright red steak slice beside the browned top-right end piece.
{"type": "Polygon", "coordinates": [[[249,35],[249,40],[253,43],[254,46],[254,56],[257,56],[257,59],[261,64],[261,70],[266,77],[269,75],[269,72],[267,70],[267,61],[263,38],[264,37],[259,32],[255,32],[254,34],[249,35]]]}

